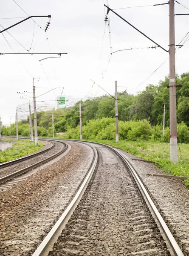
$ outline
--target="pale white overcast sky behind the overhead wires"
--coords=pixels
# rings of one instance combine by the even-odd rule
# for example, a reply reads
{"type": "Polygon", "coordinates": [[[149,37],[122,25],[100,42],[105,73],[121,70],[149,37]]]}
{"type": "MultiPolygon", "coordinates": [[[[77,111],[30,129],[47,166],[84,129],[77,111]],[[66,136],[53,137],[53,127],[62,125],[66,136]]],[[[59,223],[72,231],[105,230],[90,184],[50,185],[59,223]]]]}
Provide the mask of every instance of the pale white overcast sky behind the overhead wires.
{"type": "MultiPolygon", "coordinates": [[[[35,79],[36,96],[55,87],[64,87],[64,95],[73,97],[101,96],[105,92],[92,79],[109,93],[114,93],[114,81],[118,86],[127,87],[128,93],[136,94],[144,90],[147,84],[158,84],[169,74],[169,61],[158,66],[169,56],[162,49],[134,49],[152,47],[154,44],[131,26],[110,12],[110,51],[108,26],[104,22],[104,3],[107,0],[16,0],[28,15],[51,15],[51,25],[45,34],[44,28],[48,17],[27,20],[8,30],[30,52],[67,52],[61,58],[39,59],[49,55],[0,55],[0,116],[3,124],[14,119],[16,106],[28,102],[20,99],[17,92],[32,91],[35,79]],[[105,27],[105,33],[104,33],[105,27]],[[34,32],[34,38],[33,38],[34,32]],[[47,35],[47,36],[46,36],[47,35]],[[104,40],[103,40],[104,35],[104,40]],[[48,40],[46,39],[48,37],[48,40]],[[33,38],[33,42],[32,42],[33,38]],[[32,43],[32,44],[31,44],[32,43]],[[49,47],[48,47],[49,44],[49,47]],[[119,49],[130,49],[110,55],[119,49]],[[111,56],[111,58],[110,58],[111,56]],[[109,61],[110,60],[110,61],[109,61]],[[148,76],[147,81],[140,84],[148,76]],[[38,82],[37,82],[38,81],[38,82]],[[93,87],[92,87],[93,86],[93,87]]],[[[111,9],[130,6],[145,6],[166,3],[165,0],[109,0],[111,9]]],[[[189,8],[188,0],[179,3],[189,8]]],[[[0,1],[0,25],[11,26],[27,17],[14,0],[0,1]],[[19,17],[16,19],[5,18],[19,17]]],[[[169,5],[147,6],[115,10],[147,36],[165,49],[169,49],[169,5]]],[[[175,3],[176,13],[189,13],[189,10],[175,3]]],[[[2,27],[0,27],[2,30],[2,27]]],[[[179,44],[189,32],[189,16],[175,16],[175,39],[179,44]]],[[[27,52],[7,32],[0,34],[0,52],[27,52]],[[5,36],[5,38],[3,37],[5,36]]],[[[189,41],[176,54],[176,72],[188,72],[189,41]]],[[[119,91],[124,88],[118,88],[119,91]]],[[[62,89],[41,96],[40,100],[55,100],[62,89]]],[[[32,94],[28,94],[32,96],[32,94]]],[[[55,102],[49,102],[55,105],[55,102]]]]}

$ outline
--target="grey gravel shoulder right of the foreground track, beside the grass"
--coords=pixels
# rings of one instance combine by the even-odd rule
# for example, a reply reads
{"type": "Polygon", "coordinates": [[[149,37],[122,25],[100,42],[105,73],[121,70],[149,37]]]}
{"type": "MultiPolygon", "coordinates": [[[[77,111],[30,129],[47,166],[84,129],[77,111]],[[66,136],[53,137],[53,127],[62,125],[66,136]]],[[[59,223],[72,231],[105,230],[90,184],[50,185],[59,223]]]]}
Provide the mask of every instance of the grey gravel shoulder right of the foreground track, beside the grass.
{"type": "MultiPolygon", "coordinates": [[[[140,159],[120,150],[124,155],[140,159]]],[[[166,224],[172,231],[176,241],[183,250],[184,255],[189,255],[189,188],[179,180],[164,177],[147,176],[147,174],[166,174],[156,166],[142,161],[133,160],[133,166],[140,175],[153,198],[161,209],[166,224]]]]}

